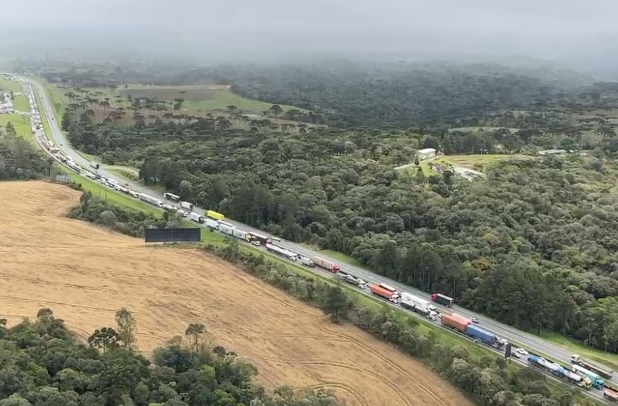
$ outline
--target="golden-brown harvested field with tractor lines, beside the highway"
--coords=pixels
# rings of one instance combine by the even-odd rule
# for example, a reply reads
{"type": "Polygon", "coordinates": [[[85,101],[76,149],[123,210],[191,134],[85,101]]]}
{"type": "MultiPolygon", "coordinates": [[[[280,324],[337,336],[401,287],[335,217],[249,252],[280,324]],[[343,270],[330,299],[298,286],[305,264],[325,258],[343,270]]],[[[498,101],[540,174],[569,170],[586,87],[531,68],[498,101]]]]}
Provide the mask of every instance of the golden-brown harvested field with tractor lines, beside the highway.
{"type": "Polygon", "coordinates": [[[345,405],[470,405],[414,359],[197,250],[64,218],[80,194],[43,182],[0,183],[0,312],[13,324],[52,308],[87,337],[132,310],[145,353],[191,322],[248,358],[271,388],[330,387],[345,405]]]}

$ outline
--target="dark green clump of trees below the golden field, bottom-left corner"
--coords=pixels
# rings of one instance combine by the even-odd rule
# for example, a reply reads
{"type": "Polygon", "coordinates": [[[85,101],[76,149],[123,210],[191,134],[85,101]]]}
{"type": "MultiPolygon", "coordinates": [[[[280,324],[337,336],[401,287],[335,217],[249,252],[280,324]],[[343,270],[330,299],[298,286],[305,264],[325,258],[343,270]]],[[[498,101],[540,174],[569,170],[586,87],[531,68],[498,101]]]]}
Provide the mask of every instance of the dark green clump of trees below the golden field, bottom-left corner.
{"type": "Polygon", "coordinates": [[[115,319],[87,344],[49,308],[10,328],[0,319],[0,406],[337,405],[331,391],[267,393],[252,380],[255,367],[204,339],[204,324],[190,324],[147,360],[134,348],[131,312],[115,319]]]}

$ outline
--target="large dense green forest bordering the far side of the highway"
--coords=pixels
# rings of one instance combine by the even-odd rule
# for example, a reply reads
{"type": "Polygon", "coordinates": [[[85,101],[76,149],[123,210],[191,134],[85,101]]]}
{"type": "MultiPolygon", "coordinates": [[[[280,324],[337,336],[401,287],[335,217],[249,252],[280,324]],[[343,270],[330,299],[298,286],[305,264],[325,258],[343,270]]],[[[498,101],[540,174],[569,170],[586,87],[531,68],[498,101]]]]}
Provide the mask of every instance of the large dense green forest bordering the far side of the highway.
{"type": "MultiPolygon", "coordinates": [[[[185,200],[350,254],[513,326],[618,351],[615,138],[586,155],[497,162],[486,180],[468,182],[450,170],[394,170],[417,148],[446,148],[457,133],[285,134],[201,118],[126,127],[93,125],[83,113],[63,124],[73,145],[137,166],[143,182],[185,200]]],[[[451,148],[493,148],[500,136],[466,134],[451,148]]],[[[540,135],[511,136],[525,150],[540,135]]]]}

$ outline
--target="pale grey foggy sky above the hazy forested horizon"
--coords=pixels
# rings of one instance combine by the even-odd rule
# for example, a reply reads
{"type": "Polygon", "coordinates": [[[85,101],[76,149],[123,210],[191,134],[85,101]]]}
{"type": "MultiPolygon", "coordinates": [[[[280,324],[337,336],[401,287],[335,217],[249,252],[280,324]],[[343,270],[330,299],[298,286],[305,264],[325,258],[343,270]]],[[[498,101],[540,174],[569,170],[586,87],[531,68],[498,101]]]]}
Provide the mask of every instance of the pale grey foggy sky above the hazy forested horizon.
{"type": "Polygon", "coordinates": [[[175,56],[618,59],[611,0],[5,0],[5,52],[175,56]]]}

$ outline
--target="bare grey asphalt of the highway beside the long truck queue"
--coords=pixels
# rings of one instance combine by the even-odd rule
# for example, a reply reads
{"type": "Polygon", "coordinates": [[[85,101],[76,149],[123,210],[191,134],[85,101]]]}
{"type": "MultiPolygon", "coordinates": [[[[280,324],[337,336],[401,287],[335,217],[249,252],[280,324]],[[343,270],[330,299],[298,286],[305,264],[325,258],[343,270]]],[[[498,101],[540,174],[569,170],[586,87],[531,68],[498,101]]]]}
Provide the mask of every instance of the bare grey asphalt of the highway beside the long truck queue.
{"type": "MultiPolygon", "coordinates": [[[[42,106],[39,106],[39,112],[41,116],[43,116],[44,114],[47,117],[49,127],[51,129],[51,137],[53,138],[53,142],[55,143],[55,146],[57,146],[64,155],[66,155],[67,157],[71,157],[71,159],[73,159],[73,161],[75,161],[76,164],[84,168],[89,168],[90,163],[88,159],[85,159],[84,157],[82,157],[82,155],[76,152],[76,150],[74,150],[71,147],[71,145],[65,138],[64,133],[62,132],[60,128],[60,123],[58,123],[58,118],[55,117],[53,108],[51,106],[51,102],[48,98],[48,95],[46,94],[44,87],[39,82],[32,80],[30,78],[20,77],[20,79],[30,83],[30,85],[33,87],[33,90],[37,92],[40,100],[42,101],[42,106]]],[[[106,170],[103,167],[103,165],[100,166],[100,169],[97,172],[100,175],[105,176],[107,178],[117,179],[121,184],[128,184],[127,187],[132,188],[134,191],[139,191],[140,193],[146,193],[153,197],[158,197],[162,201],[165,201],[161,193],[154,191],[148,188],[148,186],[144,186],[140,184],[139,182],[134,182],[130,179],[123,179],[119,177],[118,175],[116,175],[116,173],[112,173],[109,170],[106,170]]],[[[204,213],[205,209],[195,206],[194,211],[197,213],[204,213]]],[[[226,218],[225,221],[235,225],[239,229],[261,233],[263,235],[273,237],[269,233],[266,233],[259,229],[255,229],[250,226],[247,226],[240,222],[233,221],[229,218],[226,218]]],[[[277,242],[277,245],[280,245],[281,247],[289,249],[290,251],[294,251],[297,254],[308,256],[310,258],[315,257],[315,256],[321,256],[323,258],[328,258],[328,256],[322,255],[317,251],[313,251],[312,249],[308,249],[294,242],[281,240],[281,242],[277,242]]],[[[339,263],[339,261],[336,261],[333,258],[328,258],[328,259],[330,259],[330,261],[337,263],[341,267],[342,271],[347,272],[348,274],[353,274],[354,276],[360,277],[361,279],[364,279],[364,281],[387,283],[391,286],[394,286],[394,288],[396,288],[399,292],[409,292],[419,297],[422,297],[423,299],[427,299],[431,301],[430,294],[421,292],[420,290],[416,290],[410,286],[404,285],[403,283],[392,281],[391,279],[387,279],[378,274],[374,274],[373,272],[366,270],[362,267],[355,267],[353,265],[348,265],[346,263],[339,263]]],[[[331,274],[330,272],[326,270],[320,270],[317,267],[314,270],[317,272],[320,272],[321,274],[329,276],[329,277],[333,276],[333,274],[331,274]]],[[[368,290],[365,290],[364,293],[371,296],[368,290]]],[[[389,303],[389,302],[385,301],[385,303],[389,303]]],[[[400,306],[396,306],[393,303],[389,303],[389,305],[400,308],[400,306]]],[[[436,303],[436,308],[439,308],[438,310],[441,310],[440,309],[441,306],[438,305],[437,303],[436,303]]],[[[420,315],[414,312],[411,312],[409,310],[404,310],[404,311],[410,312],[412,315],[415,315],[416,317],[421,317],[420,315]]],[[[513,346],[522,346],[523,348],[526,348],[531,353],[538,353],[539,355],[548,355],[554,360],[560,361],[560,363],[565,366],[570,365],[572,352],[569,351],[567,348],[563,348],[562,346],[548,342],[545,339],[536,337],[535,335],[532,335],[529,333],[525,333],[521,330],[518,330],[511,326],[507,326],[506,324],[502,324],[499,321],[495,321],[489,317],[485,317],[484,315],[479,315],[475,312],[471,312],[470,310],[466,310],[459,306],[453,306],[452,311],[457,312],[466,317],[477,317],[477,319],[479,319],[479,326],[482,326],[483,328],[487,328],[488,330],[491,330],[493,333],[495,333],[501,338],[508,340],[509,342],[513,342],[513,346]]],[[[430,319],[427,319],[427,320],[431,321],[430,319]]],[[[441,323],[439,320],[434,321],[434,323],[438,326],[441,326],[441,323]]],[[[517,360],[516,358],[513,358],[513,360],[515,362],[520,362],[521,364],[527,364],[526,362],[522,362],[521,360],[517,360]]],[[[618,385],[617,376],[614,376],[611,382],[614,382],[618,385]]],[[[598,391],[590,391],[588,392],[588,394],[591,397],[593,397],[595,400],[603,399],[602,395],[600,395],[600,392],[598,391]]]]}

